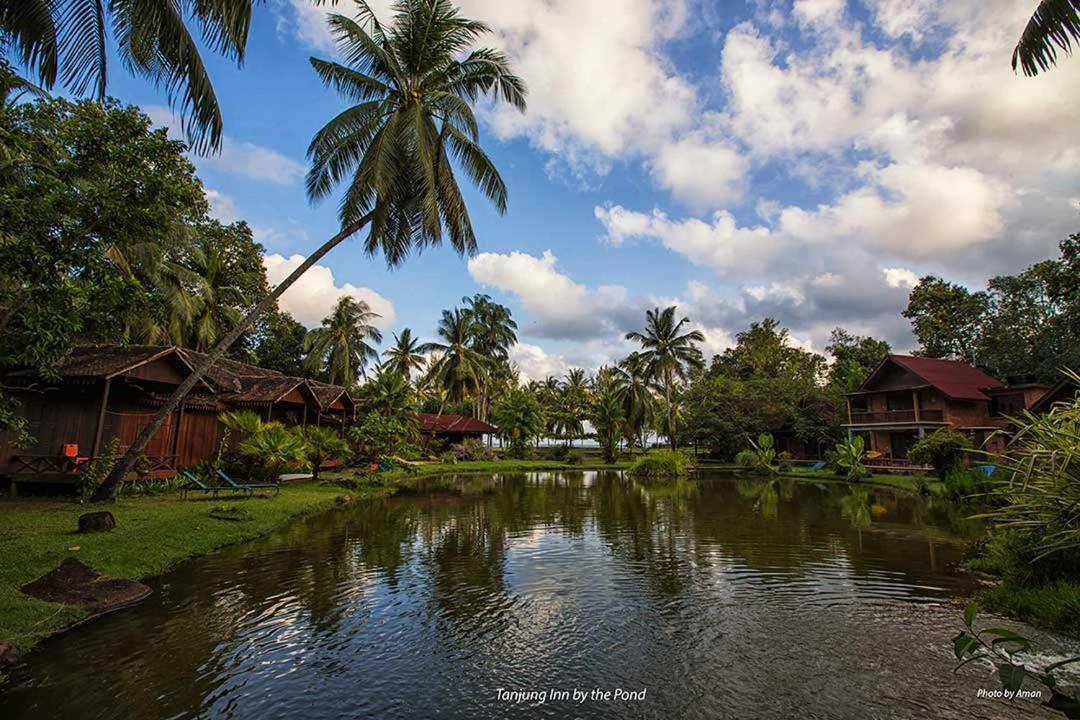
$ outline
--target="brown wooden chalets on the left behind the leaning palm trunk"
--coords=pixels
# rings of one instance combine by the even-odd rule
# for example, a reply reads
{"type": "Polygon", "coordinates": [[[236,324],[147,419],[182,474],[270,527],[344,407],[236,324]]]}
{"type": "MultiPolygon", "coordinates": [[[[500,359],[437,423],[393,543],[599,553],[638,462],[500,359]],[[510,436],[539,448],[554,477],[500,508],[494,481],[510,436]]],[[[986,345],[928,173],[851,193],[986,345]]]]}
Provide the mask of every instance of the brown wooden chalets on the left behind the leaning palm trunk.
{"type": "MultiPolygon", "coordinates": [[[[33,445],[0,436],[0,475],[72,481],[118,438],[126,449],[168,396],[205,357],[173,347],[79,347],[54,377],[8,373],[33,445]]],[[[326,421],[345,430],[352,398],[345,388],[292,378],[231,359],[217,361],[150,440],[132,478],[172,477],[212,459],[221,438],[218,413],[251,409],[286,425],[326,421]]]]}

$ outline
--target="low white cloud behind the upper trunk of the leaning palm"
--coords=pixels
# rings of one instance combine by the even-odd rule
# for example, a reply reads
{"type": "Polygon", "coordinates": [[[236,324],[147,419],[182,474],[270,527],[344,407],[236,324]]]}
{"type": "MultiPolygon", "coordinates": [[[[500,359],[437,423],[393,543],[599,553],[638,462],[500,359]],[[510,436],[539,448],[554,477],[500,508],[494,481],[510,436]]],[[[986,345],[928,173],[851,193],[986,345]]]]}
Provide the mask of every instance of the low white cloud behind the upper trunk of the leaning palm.
{"type": "MultiPolygon", "coordinates": [[[[303,262],[302,255],[266,255],[262,264],[267,270],[267,280],[271,287],[284,280],[291,272],[303,262]]],[[[338,285],[334,280],[334,271],[326,266],[315,264],[303,273],[296,283],[281,296],[278,304],[298,322],[308,327],[322,324],[338,299],[352,296],[365,301],[380,317],[373,324],[381,329],[394,324],[394,307],[387,298],[369,287],[356,287],[350,283],[338,285]]]]}

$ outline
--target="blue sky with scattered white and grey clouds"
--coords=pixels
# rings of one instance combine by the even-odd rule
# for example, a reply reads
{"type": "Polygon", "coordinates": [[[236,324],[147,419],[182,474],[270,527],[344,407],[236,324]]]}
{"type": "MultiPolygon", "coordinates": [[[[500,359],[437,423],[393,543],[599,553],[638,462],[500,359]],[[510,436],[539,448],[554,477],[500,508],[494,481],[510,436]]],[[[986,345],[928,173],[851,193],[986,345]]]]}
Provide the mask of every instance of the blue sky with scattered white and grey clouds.
{"type": "MultiPolygon", "coordinates": [[[[461,0],[529,91],[524,114],[478,108],[508,212],[467,193],[471,258],[429,248],[391,270],[347,242],[282,307],[310,327],[353,295],[384,330],[432,338],[444,308],[487,293],[519,324],[524,379],[624,356],[645,310],[673,303],[706,355],[767,316],[816,352],[836,326],[909,350],[918,277],[983,287],[1080,231],[1080,58],[1037,78],[1009,64],[1035,4],[461,0]]],[[[226,139],[192,161],[272,283],[337,230],[303,175],[346,105],[308,58],[334,58],[325,14],[352,8],[269,0],[242,68],[204,55],[226,139]]],[[[161,91],[118,64],[110,83],[176,132],[161,91]]]]}

